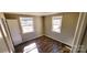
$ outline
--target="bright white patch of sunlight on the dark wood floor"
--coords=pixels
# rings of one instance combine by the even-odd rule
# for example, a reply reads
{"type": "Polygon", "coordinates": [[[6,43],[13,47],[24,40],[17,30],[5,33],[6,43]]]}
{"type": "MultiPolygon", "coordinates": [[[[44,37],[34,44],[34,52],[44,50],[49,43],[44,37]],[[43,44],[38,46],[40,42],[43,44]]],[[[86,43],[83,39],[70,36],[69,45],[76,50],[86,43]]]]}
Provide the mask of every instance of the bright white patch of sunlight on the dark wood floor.
{"type": "Polygon", "coordinates": [[[25,46],[23,53],[39,53],[36,43],[31,43],[30,45],[25,46]]]}

